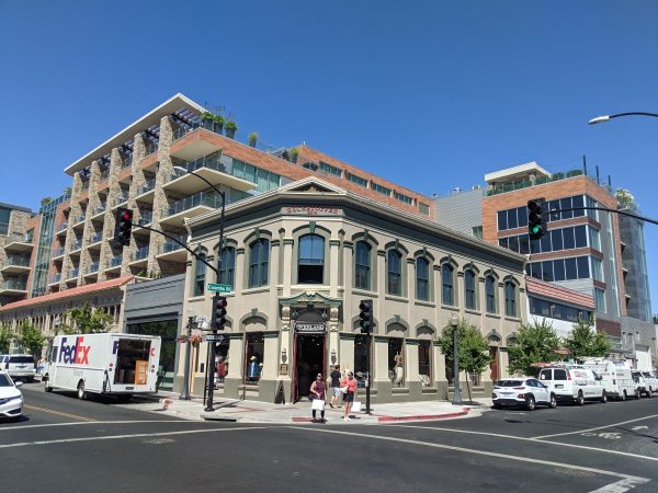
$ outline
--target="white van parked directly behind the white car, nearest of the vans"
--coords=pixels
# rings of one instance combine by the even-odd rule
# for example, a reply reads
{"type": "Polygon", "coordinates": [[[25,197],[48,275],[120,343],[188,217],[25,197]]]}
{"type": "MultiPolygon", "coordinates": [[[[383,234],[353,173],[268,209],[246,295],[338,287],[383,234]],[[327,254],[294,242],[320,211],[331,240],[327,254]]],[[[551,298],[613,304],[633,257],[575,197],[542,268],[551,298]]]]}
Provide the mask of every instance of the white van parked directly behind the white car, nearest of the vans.
{"type": "Polygon", "coordinates": [[[608,402],[601,377],[582,366],[549,366],[540,371],[538,380],[547,386],[558,401],[585,404],[586,400],[608,402]]]}

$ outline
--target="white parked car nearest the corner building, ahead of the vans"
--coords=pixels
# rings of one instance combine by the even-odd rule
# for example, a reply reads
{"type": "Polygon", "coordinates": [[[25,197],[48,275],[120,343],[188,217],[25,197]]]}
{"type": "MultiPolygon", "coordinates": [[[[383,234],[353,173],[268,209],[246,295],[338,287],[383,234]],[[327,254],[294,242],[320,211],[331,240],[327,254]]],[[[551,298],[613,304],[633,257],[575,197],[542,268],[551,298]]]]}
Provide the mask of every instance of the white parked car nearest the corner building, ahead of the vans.
{"type": "Polygon", "coordinates": [[[525,406],[529,411],[534,411],[537,404],[553,409],[557,406],[555,393],[532,377],[509,378],[497,381],[491,399],[496,409],[503,405],[514,405],[525,406]]]}

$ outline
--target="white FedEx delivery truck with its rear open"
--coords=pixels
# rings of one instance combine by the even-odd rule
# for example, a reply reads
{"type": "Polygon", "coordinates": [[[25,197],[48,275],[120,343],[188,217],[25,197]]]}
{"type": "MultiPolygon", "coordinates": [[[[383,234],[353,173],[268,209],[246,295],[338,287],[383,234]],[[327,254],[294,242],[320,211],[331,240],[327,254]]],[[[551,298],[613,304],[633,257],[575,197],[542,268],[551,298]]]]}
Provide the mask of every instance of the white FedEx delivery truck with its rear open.
{"type": "Polygon", "coordinates": [[[157,390],[160,336],[139,334],[56,335],[44,368],[46,392],[73,390],[129,398],[157,390]]]}

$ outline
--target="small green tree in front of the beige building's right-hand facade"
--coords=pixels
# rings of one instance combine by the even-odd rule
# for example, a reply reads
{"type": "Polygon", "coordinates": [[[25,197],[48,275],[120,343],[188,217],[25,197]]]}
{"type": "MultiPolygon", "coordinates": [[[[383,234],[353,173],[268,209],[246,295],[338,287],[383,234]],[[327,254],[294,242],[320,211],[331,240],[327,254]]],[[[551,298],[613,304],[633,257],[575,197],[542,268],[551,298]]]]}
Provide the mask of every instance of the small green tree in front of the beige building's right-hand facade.
{"type": "MultiPolygon", "coordinates": [[[[489,356],[489,343],[481,334],[480,330],[466,322],[460,320],[457,324],[457,348],[460,356],[460,369],[472,375],[480,375],[491,364],[489,356]]],[[[436,343],[441,347],[441,352],[445,355],[445,365],[447,368],[453,367],[453,326],[447,324],[436,343]]],[[[458,377],[457,377],[458,378],[458,377]]],[[[466,380],[468,383],[468,380],[466,380]]],[[[468,387],[468,400],[470,400],[470,387],[468,387]]]]}

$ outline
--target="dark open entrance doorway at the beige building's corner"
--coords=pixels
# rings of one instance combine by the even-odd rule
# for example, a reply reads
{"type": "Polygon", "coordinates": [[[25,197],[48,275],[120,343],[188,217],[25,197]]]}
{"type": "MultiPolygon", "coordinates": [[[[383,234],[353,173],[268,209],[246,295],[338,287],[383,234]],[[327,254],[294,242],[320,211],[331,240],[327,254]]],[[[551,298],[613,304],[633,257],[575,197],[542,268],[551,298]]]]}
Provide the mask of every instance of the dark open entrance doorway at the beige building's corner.
{"type": "Polygon", "coordinates": [[[293,395],[295,402],[307,398],[310,385],[318,374],[322,374],[325,362],[325,334],[295,334],[295,360],[293,362],[295,380],[293,395]]]}

